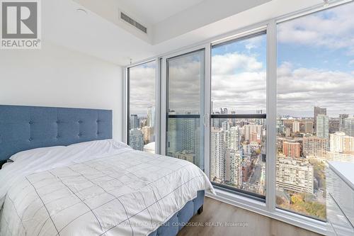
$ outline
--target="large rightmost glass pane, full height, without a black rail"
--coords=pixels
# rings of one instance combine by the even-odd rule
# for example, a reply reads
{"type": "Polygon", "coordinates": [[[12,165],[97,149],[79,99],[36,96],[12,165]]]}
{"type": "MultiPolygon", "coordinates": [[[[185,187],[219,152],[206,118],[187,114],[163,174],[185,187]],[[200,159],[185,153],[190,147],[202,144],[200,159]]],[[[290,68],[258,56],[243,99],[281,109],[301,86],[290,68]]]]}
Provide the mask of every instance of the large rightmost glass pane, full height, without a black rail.
{"type": "Polygon", "coordinates": [[[319,220],[326,160],[354,162],[345,145],[354,140],[353,11],[345,4],[278,25],[277,205],[319,220]]]}

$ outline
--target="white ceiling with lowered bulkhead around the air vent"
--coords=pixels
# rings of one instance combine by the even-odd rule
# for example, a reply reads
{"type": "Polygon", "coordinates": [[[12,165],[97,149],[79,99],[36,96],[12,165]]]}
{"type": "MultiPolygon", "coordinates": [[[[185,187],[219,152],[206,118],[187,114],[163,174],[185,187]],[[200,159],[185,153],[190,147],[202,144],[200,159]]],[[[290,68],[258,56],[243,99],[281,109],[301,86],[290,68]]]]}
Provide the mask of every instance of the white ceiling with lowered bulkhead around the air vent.
{"type": "MultiPolygon", "coordinates": [[[[130,60],[138,62],[182,47],[195,45],[232,30],[322,2],[322,0],[272,0],[268,2],[266,2],[267,0],[220,0],[227,2],[228,6],[234,6],[235,1],[238,1],[240,7],[229,9],[220,8],[220,6],[218,13],[212,16],[210,16],[210,11],[215,11],[215,5],[213,5],[217,2],[215,0],[202,1],[197,8],[194,5],[183,11],[180,11],[180,9],[186,7],[186,5],[178,3],[173,6],[176,6],[176,8],[178,6],[179,9],[173,9],[172,11],[166,6],[165,11],[168,13],[160,14],[152,19],[152,21],[158,21],[174,11],[179,11],[179,13],[175,13],[164,21],[156,23],[154,25],[155,32],[152,35],[154,37],[146,40],[96,12],[87,9],[87,14],[79,13],[76,9],[82,8],[82,6],[75,1],[91,1],[96,3],[97,8],[101,7],[101,1],[97,0],[42,1],[42,47],[45,47],[46,41],[50,41],[120,65],[127,65],[130,60]],[[260,4],[262,2],[266,3],[260,4]],[[254,6],[255,4],[256,6],[254,6]],[[202,11],[198,11],[198,9],[202,9],[202,11]],[[242,11],[242,9],[246,10],[242,11]],[[233,12],[236,13],[233,14],[233,12]],[[171,29],[169,30],[169,28],[171,29]]],[[[139,0],[124,1],[133,1],[137,4],[139,0]]],[[[144,1],[174,2],[175,0],[144,1]]],[[[197,1],[199,0],[194,0],[193,3],[196,4],[197,1]]],[[[183,2],[187,1],[183,0],[183,2]]],[[[164,11],[162,7],[156,9],[164,11]]],[[[149,9],[145,14],[148,15],[147,12],[153,13],[157,11],[156,9],[149,9]]]]}

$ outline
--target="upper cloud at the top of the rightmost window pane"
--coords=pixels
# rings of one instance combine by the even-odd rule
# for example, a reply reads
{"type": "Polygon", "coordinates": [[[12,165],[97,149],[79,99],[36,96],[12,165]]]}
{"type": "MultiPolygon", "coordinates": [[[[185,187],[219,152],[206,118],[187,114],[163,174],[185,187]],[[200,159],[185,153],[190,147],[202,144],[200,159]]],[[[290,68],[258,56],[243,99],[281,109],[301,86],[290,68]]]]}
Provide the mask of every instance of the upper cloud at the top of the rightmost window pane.
{"type": "Polygon", "coordinates": [[[278,25],[278,42],[346,48],[354,54],[354,4],[326,9],[278,25]]]}

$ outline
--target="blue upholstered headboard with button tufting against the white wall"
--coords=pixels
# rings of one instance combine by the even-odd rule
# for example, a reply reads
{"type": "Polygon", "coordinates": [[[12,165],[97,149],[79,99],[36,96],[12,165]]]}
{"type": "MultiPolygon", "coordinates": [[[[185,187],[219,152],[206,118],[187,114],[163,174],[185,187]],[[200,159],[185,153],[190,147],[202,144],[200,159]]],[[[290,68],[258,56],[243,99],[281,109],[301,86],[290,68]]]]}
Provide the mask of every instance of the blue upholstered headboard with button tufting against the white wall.
{"type": "Polygon", "coordinates": [[[112,138],[112,111],[0,105],[0,162],[23,150],[112,138]]]}

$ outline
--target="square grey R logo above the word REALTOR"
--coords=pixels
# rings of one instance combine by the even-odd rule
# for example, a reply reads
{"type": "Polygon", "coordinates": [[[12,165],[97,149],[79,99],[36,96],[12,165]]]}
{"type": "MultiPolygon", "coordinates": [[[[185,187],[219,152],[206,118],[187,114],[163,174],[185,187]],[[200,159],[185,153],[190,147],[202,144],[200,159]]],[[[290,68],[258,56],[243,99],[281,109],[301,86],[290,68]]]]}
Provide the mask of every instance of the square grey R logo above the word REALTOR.
{"type": "Polygon", "coordinates": [[[1,1],[2,38],[38,38],[38,2],[1,1]]]}

